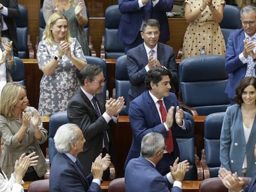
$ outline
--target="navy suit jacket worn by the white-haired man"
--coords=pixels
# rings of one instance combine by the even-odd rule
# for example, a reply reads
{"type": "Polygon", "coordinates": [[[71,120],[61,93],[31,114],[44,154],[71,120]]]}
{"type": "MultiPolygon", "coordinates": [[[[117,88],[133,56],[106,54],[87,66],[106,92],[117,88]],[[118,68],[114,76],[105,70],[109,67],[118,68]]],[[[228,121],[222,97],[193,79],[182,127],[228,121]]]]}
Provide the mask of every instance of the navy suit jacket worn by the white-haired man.
{"type": "MultiPolygon", "coordinates": [[[[79,161],[77,159],[77,161],[79,161]]],[[[85,175],[66,154],[57,153],[51,162],[49,191],[101,191],[100,185],[92,183],[93,175],[85,175]]]]}

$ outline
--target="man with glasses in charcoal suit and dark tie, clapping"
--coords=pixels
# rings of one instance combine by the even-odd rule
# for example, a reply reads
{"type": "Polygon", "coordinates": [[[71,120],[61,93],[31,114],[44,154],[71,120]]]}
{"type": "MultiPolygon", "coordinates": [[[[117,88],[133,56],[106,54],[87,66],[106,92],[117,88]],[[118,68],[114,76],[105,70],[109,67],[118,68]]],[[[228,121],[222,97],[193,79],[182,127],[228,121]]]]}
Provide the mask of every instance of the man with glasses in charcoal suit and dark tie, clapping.
{"type": "MultiPolygon", "coordinates": [[[[105,101],[101,93],[105,77],[98,65],[85,65],[79,72],[79,82],[81,86],[67,106],[67,117],[70,123],[79,125],[87,140],[78,158],[88,174],[98,154],[110,154],[113,160],[114,146],[109,125],[117,122],[124,98],[105,101]]],[[[108,174],[104,178],[107,177],[108,174]]]]}

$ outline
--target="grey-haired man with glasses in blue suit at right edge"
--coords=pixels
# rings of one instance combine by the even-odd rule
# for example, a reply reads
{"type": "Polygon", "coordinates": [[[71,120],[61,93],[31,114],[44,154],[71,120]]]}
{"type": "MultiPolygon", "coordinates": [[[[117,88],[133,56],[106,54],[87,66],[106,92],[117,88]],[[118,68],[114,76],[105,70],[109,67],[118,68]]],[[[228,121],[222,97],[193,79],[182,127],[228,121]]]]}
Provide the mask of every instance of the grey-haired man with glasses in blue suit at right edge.
{"type": "Polygon", "coordinates": [[[256,48],[256,7],[245,6],[241,9],[242,29],[236,30],[229,35],[226,49],[226,64],[228,70],[228,83],[225,93],[234,104],[235,90],[239,82],[245,75],[252,70],[255,75],[254,67],[248,67],[249,55],[255,59],[256,48]]]}

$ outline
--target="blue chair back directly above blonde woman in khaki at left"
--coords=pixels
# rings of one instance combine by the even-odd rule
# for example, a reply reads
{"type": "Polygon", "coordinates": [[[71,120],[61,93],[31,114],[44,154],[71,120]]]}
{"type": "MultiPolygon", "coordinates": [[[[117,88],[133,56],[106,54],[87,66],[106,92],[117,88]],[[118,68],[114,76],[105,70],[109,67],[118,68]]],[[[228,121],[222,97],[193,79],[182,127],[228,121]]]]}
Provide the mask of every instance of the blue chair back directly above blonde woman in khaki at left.
{"type": "Polygon", "coordinates": [[[12,74],[12,80],[15,83],[19,83],[25,86],[25,68],[23,61],[19,57],[14,57],[14,61],[16,63],[16,70],[12,74]]]}

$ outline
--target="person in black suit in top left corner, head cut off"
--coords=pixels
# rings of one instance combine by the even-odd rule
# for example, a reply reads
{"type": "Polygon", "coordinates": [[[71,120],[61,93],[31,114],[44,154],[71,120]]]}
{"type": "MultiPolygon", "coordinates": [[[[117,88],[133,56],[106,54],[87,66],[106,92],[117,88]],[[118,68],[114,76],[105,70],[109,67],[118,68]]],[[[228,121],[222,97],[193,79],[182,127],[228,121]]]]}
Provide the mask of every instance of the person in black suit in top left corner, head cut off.
{"type": "Polygon", "coordinates": [[[18,57],[18,38],[15,19],[19,17],[20,12],[17,0],[0,0],[0,14],[2,14],[4,19],[3,23],[1,23],[1,35],[9,38],[13,42],[14,56],[18,57]]]}

